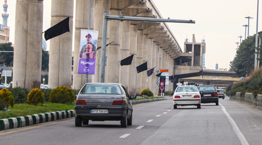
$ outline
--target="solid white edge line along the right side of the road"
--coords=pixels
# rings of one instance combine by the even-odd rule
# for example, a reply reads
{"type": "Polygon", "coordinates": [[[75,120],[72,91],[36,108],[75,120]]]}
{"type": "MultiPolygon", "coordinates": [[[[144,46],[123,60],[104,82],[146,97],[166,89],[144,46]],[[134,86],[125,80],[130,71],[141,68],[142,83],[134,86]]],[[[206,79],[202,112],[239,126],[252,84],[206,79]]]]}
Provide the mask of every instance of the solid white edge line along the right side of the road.
{"type": "Polygon", "coordinates": [[[245,136],[242,134],[242,132],[239,130],[236,122],[234,121],[233,118],[231,118],[231,116],[227,113],[227,110],[226,108],[219,103],[219,105],[221,106],[224,114],[226,114],[227,116],[227,119],[229,120],[229,122],[231,123],[232,127],[233,127],[233,130],[235,132],[235,134],[237,135],[237,137],[239,138],[240,142],[242,145],[249,145],[249,143],[247,142],[247,139],[245,138],[245,136]]]}

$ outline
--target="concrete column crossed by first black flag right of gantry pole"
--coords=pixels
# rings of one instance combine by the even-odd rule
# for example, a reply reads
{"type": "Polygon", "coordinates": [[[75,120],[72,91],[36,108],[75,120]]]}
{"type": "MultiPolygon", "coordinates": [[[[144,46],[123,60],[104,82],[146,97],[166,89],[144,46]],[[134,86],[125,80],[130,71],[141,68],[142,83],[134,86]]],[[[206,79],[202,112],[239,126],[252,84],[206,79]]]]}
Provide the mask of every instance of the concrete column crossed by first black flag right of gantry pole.
{"type": "MultiPolygon", "coordinates": [[[[120,38],[120,56],[119,60],[123,60],[129,56],[130,41],[130,21],[121,22],[121,38],[120,38]]],[[[133,58],[134,59],[134,58],[133,58]]],[[[129,66],[119,65],[119,83],[128,89],[129,66]]]]}

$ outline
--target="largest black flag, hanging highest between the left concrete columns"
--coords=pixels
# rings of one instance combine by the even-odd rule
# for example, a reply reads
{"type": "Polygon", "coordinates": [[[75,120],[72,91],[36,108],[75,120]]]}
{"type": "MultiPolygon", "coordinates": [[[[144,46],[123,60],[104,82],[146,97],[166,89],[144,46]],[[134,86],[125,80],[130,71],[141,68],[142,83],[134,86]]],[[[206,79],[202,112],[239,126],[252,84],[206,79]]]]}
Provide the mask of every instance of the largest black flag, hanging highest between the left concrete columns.
{"type": "Polygon", "coordinates": [[[69,17],[64,19],[63,21],[57,23],[53,27],[44,31],[44,38],[45,40],[52,39],[56,36],[62,35],[65,32],[69,32],[69,17]]]}

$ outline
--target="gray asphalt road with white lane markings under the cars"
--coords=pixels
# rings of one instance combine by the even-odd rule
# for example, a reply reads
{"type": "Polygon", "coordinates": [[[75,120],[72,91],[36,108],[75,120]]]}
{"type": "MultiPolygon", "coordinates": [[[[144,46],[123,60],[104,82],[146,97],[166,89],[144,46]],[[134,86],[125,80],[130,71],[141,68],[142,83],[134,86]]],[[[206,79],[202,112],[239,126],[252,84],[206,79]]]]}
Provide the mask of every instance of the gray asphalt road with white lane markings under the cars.
{"type": "Polygon", "coordinates": [[[96,145],[261,145],[262,111],[229,97],[215,103],[173,108],[169,100],[133,107],[133,125],[120,121],[89,122],[75,127],[74,118],[0,131],[0,144],[96,145]]]}

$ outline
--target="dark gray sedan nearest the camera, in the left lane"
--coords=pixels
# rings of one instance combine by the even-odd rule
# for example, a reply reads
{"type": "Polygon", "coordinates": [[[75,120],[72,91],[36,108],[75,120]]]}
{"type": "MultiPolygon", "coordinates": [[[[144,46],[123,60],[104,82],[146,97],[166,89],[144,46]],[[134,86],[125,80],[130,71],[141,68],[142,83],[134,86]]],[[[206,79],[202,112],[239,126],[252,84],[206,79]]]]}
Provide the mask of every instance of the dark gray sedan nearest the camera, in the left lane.
{"type": "Polygon", "coordinates": [[[92,121],[121,121],[122,127],[132,125],[132,104],[121,84],[87,83],[77,95],[75,125],[88,125],[92,121]]]}

